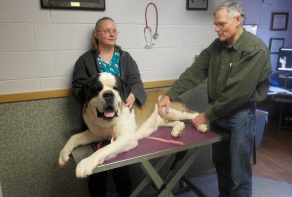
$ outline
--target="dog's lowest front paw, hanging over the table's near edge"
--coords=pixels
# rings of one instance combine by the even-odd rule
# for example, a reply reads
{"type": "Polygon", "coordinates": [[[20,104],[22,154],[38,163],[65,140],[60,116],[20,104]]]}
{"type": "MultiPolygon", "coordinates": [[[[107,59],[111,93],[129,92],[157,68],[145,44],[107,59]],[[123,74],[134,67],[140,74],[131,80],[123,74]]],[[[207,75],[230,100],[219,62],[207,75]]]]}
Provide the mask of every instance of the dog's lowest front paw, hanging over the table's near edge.
{"type": "Polygon", "coordinates": [[[92,171],[96,168],[99,162],[93,160],[92,158],[86,158],[82,160],[76,167],[76,177],[77,178],[86,178],[89,175],[92,175],[92,171]]]}

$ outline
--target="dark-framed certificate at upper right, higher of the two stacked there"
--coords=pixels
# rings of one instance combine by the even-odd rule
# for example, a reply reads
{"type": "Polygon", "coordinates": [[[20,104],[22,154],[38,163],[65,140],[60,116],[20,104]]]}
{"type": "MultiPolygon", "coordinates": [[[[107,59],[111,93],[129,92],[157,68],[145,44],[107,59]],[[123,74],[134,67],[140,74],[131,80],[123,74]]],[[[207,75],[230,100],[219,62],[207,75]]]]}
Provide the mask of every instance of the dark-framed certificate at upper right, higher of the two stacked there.
{"type": "Polygon", "coordinates": [[[273,12],[271,30],[272,31],[287,30],[288,19],[289,19],[288,12],[273,12]]]}

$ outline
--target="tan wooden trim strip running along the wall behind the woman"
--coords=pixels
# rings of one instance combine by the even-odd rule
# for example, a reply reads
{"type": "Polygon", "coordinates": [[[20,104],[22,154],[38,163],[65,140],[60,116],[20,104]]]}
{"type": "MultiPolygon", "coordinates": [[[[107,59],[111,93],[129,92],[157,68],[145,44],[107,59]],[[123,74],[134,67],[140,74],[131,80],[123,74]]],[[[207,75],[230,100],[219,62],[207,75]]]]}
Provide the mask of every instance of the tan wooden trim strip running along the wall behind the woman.
{"type": "MultiPolygon", "coordinates": [[[[143,82],[144,88],[158,88],[158,87],[170,87],[174,84],[177,79],[161,80],[161,81],[149,81],[143,82]]],[[[205,79],[203,83],[207,82],[205,79]]],[[[0,103],[10,103],[19,101],[32,101],[46,98],[58,98],[71,96],[70,89],[57,89],[57,90],[46,90],[46,91],[35,91],[35,92],[23,92],[23,93],[12,93],[12,94],[0,94],[0,103]]]]}

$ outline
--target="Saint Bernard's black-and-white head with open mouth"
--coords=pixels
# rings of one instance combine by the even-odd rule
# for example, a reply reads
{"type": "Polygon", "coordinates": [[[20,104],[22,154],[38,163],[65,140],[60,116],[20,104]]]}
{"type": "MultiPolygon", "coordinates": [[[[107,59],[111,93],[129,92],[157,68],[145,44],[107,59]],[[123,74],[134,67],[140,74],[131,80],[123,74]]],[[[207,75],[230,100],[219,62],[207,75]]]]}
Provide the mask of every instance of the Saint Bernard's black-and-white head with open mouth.
{"type": "Polygon", "coordinates": [[[99,73],[82,86],[85,108],[96,112],[97,118],[112,121],[123,107],[129,87],[116,75],[99,73]]]}

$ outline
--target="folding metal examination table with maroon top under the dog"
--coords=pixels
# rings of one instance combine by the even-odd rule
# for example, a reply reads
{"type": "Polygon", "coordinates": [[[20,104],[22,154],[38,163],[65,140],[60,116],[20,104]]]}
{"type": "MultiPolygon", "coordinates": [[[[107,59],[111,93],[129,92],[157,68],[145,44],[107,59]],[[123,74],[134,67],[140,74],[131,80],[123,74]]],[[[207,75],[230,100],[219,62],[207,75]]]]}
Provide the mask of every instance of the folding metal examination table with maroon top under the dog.
{"type": "MultiPolygon", "coordinates": [[[[161,137],[165,139],[173,139],[170,134],[171,129],[172,128],[170,127],[160,127],[151,136],[161,137]]],[[[74,133],[70,133],[69,135],[72,134],[74,133]]],[[[171,189],[180,180],[180,178],[184,175],[184,173],[188,170],[188,168],[196,159],[198,155],[197,149],[199,149],[203,145],[229,139],[229,137],[229,134],[225,131],[216,131],[216,133],[211,131],[208,131],[206,133],[199,133],[191,124],[187,124],[182,133],[182,136],[176,139],[179,141],[183,141],[184,145],[174,145],[171,143],[165,143],[153,139],[144,138],[139,140],[139,144],[137,147],[135,147],[135,149],[119,154],[117,157],[109,161],[105,161],[102,165],[99,165],[93,171],[93,173],[139,163],[147,177],[145,177],[140,185],[137,186],[131,196],[138,195],[138,193],[150,181],[153,181],[155,186],[157,187],[159,193],[158,196],[173,196],[173,194],[171,193],[171,189]],[[163,165],[167,162],[172,154],[190,149],[195,150],[166,185],[164,180],[158,174],[159,169],[163,167],[163,165]],[[149,160],[159,157],[162,158],[159,160],[156,166],[153,167],[149,160]]],[[[89,157],[93,153],[94,150],[91,145],[82,145],[72,151],[72,157],[78,164],[81,160],[89,157]]]]}

